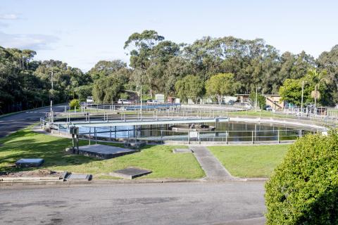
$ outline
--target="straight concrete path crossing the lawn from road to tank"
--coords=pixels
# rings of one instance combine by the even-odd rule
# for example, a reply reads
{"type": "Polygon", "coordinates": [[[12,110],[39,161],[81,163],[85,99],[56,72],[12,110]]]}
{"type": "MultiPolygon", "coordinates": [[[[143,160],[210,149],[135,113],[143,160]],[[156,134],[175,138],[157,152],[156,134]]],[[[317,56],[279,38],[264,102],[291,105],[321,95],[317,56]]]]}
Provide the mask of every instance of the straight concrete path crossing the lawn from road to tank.
{"type": "Polygon", "coordinates": [[[235,180],[227,169],[223,167],[220,161],[215,158],[213,153],[204,146],[191,146],[190,149],[194,151],[196,160],[199,161],[202,169],[206,172],[206,179],[208,180],[235,180]]]}

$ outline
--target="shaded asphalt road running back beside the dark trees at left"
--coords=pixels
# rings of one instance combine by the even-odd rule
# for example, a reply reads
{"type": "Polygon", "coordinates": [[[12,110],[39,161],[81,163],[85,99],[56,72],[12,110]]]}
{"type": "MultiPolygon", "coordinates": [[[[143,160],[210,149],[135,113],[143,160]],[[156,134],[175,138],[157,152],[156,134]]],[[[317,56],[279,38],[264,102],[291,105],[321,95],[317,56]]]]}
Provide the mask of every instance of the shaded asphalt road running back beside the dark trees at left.
{"type": "MultiPolygon", "coordinates": [[[[65,105],[56,105],[53,107],[55,113],[63,112],[65,105]]],[[[42,108],[38,110],[30,110],[25,113],[18,113],[0,118],[0,138],[11,134],[18,129],[23,129],[35,122],[39,122],[40,117],[44,117],[50,112],[50,108],[42,108]]]]}

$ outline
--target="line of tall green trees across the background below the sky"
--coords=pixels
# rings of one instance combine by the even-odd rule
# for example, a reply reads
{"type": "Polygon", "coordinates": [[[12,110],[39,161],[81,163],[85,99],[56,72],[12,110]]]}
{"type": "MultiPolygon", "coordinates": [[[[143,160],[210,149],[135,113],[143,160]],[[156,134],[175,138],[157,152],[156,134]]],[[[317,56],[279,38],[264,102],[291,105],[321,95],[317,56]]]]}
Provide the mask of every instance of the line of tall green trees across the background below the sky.
{"type": "Polygon", "coordinates": [[[0,47],[0,113],[48,105],[51,99],[63,103],[94,96],[98,103],[111,103],[127,97],[123,90],[139,91],[141,86],[148,98],[161,93],[182,101],[204,96],[221,101],[259,86],[299,104],[292,91],[299,94],[303,80],[306,102],[313,101],[311,90],[318,87],[320,104],[338,103],[338,45],[313,58],[305,51],[280,53],[263,39],[203,37],[184,44],[144,30],[130,35],[124,49],[130,65],[101,60],[82,72],[58,60],[34,60],[35,51],[0,47]]]}

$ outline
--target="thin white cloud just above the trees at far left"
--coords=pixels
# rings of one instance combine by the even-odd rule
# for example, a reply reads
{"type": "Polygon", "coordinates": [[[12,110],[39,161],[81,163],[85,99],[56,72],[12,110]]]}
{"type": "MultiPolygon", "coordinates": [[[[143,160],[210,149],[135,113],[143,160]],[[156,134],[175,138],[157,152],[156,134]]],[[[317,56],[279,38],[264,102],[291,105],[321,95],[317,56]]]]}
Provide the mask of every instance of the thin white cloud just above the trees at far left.
{"type": "Polygon", "coordinates": [[[0,44],[6,48],[45,50],[50,44],[58,41],[58,37],[46,34],[6,34],[0,31],[0,44]]]}

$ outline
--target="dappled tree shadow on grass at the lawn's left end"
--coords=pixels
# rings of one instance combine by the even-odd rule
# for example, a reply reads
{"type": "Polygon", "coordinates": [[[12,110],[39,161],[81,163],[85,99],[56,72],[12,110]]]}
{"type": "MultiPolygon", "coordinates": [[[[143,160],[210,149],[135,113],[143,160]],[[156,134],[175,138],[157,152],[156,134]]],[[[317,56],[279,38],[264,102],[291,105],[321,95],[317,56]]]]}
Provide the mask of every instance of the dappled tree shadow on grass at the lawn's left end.
{"type": "MultiPolygon", "coordinates": [[[[11,167],[20,158],[43,158],[43,167],[81,165],[99,159],[82,155],[70,155],[65,148],[72,146],[70,139],[57,138],[44,134],[37,134],[30,130],[21,130],[0,140],[4,146],[0,147],[0,172],[15,172],[18,168],[11,167]]],[[[80,146],[88,141],[80,141],[80,146]]],[[[20,170],[32,170],[25,168],[20,170]]]]}

